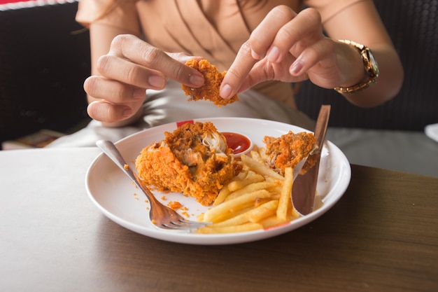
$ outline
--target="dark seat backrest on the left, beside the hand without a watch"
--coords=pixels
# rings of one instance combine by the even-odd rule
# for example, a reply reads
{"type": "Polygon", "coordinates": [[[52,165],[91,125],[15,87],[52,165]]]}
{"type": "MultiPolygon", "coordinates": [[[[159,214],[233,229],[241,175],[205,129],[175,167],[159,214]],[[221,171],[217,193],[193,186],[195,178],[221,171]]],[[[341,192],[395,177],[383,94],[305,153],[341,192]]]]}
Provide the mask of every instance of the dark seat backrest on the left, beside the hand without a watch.
{"type": "Polygon", "coordinates": [[[0,10],[0,141],[87,118],[89,34],[76,1],[51,3],[0,10]]]}

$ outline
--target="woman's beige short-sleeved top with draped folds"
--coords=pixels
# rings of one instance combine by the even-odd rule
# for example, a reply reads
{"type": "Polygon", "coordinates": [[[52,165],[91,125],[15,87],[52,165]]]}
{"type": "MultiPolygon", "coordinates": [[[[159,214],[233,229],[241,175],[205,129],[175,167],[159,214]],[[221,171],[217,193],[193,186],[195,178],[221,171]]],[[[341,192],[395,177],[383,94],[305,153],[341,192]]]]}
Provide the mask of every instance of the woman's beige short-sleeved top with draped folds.
{"type": "MultiPolygon", "coordinates": [[[[76,20],[99,22],[142,36],[167,52],[205,57],[221,71],[232,64],[241,44],[274,6],[320,11],[323,22],[361,0],[81,0],[76,20]]],[[[296,108],[290,83],[269,81],[255,87],[296,108]]]]}

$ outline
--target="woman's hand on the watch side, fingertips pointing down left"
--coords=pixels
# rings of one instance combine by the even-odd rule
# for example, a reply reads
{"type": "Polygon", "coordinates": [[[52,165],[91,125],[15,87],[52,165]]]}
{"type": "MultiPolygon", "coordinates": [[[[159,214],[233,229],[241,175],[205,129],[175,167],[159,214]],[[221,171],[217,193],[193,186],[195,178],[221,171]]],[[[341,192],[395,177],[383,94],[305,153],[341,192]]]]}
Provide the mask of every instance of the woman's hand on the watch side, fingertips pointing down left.
{"type": "Polygon", "coordinates": [[[229,98],[269,80],[310,79],[320,87],[334,88],[358,83],[364,74],[362,60],[354,48],[323,35],[316,9],[307,8],[297,14],[288,6],[277,6],[241,46],[220,93],[229,98]]]}

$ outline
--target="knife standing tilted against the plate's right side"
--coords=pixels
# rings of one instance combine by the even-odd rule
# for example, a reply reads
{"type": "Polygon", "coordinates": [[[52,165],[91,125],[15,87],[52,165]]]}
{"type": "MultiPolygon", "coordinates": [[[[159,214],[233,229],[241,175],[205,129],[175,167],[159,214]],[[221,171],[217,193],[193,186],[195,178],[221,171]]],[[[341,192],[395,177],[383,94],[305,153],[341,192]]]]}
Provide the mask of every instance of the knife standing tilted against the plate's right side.
{"type": "Polygon", "coordinates": [[[307,160],[316,160],[316,163],[305,174],[297,176],[292,185],[292,204],[299,214],[302,215],[311,213],[315,204],[321,151],[325,141],[325,132],[327,132],[330,108],[330,105],[321,106],[318,119],[316,120],[315,137],[318,148],[307,158],[307,160]]]}

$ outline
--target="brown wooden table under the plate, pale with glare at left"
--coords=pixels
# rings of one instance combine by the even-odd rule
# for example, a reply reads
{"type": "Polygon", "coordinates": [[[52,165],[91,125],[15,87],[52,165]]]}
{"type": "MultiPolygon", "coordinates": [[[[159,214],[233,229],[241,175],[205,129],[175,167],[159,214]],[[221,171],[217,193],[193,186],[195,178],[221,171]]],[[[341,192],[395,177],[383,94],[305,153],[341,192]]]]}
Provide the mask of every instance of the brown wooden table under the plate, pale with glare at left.
{"type": "Polygon", "coordinates": [[[102,215],[84,186],[98,153],[0,152],[1,291],[438,291],[437,178],[352,165],[345,195],[309,225],[193,246],[102,215]]]}

